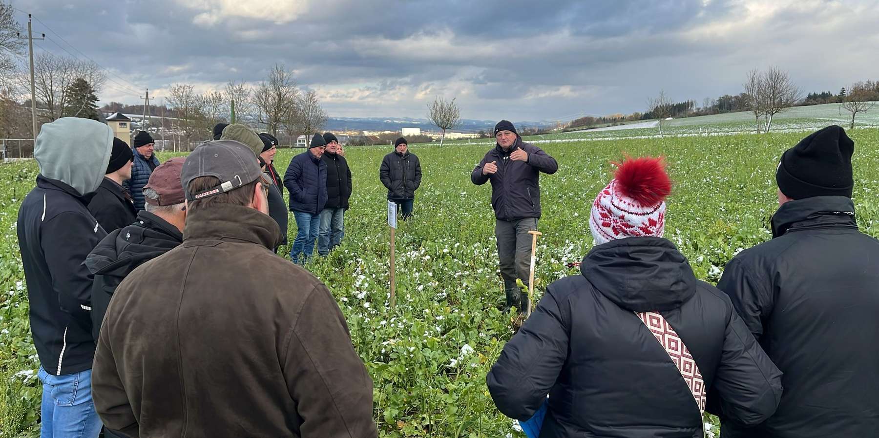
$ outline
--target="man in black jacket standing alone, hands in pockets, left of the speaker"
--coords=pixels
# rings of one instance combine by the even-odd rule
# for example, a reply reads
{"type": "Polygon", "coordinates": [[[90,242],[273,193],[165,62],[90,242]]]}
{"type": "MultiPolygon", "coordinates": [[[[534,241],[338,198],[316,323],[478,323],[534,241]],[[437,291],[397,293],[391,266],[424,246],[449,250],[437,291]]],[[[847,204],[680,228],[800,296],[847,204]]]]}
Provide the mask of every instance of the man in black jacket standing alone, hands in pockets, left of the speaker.
{"type": "Polygon", "coordinates": [[[418,155],[409,152],[409,142],[400,137],[394,142],[394,152],[381,160],[379,179],[388,189],[388,200],[396,203],[403,220],[412,216],[415,190],[421,185],[421,162],[418,155]]]}

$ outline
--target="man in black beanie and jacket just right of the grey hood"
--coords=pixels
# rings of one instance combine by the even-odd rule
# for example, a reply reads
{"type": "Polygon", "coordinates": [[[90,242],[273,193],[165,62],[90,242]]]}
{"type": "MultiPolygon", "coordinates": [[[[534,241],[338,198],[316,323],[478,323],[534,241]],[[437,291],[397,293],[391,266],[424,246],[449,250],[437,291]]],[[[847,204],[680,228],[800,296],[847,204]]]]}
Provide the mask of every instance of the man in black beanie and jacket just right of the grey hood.
{"type": "Polygon", "coordinates": [[[134,154],[125,141],[113,137],[113,153],[107,165],[104,180],[98,187],[95,197],[89,202],[91,215],[107,233],[118,230],[134,222],[137,210],[134,199],[122,186],[131,178],[134,154]]]}

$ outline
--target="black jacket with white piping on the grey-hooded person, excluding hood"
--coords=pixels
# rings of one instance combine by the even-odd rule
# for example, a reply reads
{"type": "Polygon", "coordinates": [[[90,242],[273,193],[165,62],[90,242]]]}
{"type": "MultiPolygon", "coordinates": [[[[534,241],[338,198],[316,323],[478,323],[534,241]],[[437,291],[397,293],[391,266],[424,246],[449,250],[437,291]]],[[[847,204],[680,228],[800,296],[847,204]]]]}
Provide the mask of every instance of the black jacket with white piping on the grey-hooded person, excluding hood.
{"type": "Polygon", "coordinates": [[[92,276],[83,262],[106,233],[87,207],[92,196],[40,175],[18,210],[33,343],[55,376],[90,370],[95,354],[92,276]]]}

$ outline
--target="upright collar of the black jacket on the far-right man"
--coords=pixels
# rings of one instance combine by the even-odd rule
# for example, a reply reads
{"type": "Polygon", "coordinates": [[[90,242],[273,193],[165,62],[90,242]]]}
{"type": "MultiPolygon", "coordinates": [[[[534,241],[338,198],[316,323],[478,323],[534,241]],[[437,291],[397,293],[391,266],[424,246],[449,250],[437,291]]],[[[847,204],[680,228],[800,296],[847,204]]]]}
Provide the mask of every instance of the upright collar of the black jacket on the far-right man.
{"type": "Polygon", "coordinates": [[[850,197],[806,197],[787,202],[772,217],[772,236],[827,226],[858,227],[850,197]]]}

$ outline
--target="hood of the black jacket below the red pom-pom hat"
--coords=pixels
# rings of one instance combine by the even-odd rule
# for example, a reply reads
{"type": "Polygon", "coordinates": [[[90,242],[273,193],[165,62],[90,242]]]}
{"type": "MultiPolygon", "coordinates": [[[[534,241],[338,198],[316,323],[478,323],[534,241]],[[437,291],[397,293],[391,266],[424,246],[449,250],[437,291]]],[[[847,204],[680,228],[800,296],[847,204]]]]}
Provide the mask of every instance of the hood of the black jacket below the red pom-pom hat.
{"type": "Polygon", "coordinates": [[[597,291],[632,312],[662,312],[693,297],[693,269],[672,241],[628,237],[592,248],[580,273],[597,291]]]}

